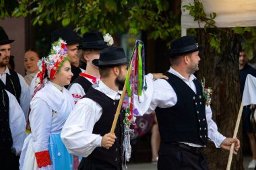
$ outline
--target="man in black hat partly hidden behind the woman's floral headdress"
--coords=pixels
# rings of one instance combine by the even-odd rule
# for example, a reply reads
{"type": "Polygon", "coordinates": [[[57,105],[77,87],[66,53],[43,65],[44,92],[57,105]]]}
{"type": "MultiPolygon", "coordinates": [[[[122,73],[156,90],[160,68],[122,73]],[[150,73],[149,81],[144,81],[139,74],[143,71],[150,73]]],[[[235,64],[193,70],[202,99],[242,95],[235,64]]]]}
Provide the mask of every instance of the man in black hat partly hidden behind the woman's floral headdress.
{"type": "MultiPolygon", "coordinates": [[[[79,73],[84,71],[79,68],[79,58],[77,56],[79,40],[71,28],[59,28],[51,33],[51,42],[56,42],[59,38],[62,38],[67,43],[67,55],[71,59],[71,72],[73,73],[70,81],[72,83],[79,76],[79,73]]],[[[68,85],[65,87],[67,88],[68,85]]]]}

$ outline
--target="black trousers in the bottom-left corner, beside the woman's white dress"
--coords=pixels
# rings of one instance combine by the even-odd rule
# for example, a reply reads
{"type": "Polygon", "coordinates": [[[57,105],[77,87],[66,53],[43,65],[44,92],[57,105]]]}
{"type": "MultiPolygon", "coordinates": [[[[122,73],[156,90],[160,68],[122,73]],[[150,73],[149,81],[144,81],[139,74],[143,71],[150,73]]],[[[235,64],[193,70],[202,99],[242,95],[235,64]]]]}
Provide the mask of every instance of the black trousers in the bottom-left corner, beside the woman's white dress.
{"type": "Polygon", "coordinates": [[[19,159],[15,153],[11,153],[11,149],[0,149],[0,169],[18,170],[19,159]]]}

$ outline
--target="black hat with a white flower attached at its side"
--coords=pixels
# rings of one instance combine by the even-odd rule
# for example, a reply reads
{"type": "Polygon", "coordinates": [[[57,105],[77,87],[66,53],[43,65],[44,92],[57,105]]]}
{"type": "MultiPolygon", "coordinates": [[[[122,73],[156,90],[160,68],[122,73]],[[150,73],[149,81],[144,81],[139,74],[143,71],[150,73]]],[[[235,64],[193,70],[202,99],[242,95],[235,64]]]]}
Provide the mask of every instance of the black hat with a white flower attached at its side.
{"type": "Polygon", "coordinates": [[[107,48],[106,42],[99,32],[86,32],[83,36],[82,44],[79,44],[78,49],[97,49],[102,50],[107,48]]]}

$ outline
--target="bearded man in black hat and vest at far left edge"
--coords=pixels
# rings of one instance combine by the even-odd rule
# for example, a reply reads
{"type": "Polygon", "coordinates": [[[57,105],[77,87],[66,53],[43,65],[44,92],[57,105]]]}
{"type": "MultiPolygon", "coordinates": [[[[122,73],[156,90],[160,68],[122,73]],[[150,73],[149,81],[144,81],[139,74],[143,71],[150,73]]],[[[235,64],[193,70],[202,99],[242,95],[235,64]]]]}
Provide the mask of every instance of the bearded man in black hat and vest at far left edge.
{"type": "Polygon", "coordinates": [[[30,88],[24,77],[8,69],[9,58],[11,55],[11,42],[5,30],[0,27],[0,83],[7,91],[13,94],[26,116],[30,105],[30,88]]]}

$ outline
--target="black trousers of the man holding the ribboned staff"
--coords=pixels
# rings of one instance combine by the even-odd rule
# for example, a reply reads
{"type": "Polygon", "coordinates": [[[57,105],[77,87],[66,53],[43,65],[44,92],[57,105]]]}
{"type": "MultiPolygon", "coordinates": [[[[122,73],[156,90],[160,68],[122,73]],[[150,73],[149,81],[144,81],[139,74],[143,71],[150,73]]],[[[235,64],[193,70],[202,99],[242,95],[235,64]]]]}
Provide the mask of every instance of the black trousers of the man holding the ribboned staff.
{"type": "Polygon", "coordinates": [[[114,165],[107,163],[106,161],[83,158],[82,161],[79,163],[77,170],[122,170],[122,165],[120,163],[120,167],[115,167],[114,165]]]}

